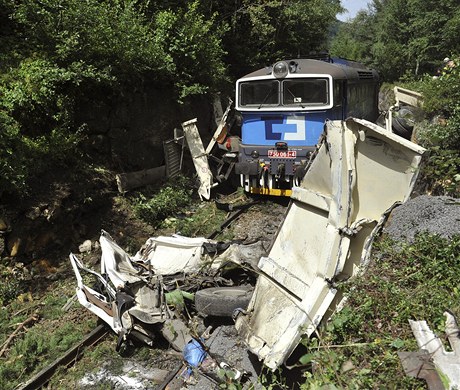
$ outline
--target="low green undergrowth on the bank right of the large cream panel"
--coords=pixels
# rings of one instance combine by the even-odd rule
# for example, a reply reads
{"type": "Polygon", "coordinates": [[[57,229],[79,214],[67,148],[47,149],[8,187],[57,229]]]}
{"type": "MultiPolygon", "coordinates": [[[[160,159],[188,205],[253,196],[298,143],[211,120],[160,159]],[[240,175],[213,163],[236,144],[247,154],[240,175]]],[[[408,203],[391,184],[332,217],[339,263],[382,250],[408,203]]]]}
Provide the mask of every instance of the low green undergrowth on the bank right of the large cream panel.
{"type": "Polygon", "coordinates": [[[399,245],[383,239],[374,251],[371,268],[345,288],[347,308],[304,341],[309,352],[300,363],[314,370],[302,388],[424,388],[405,375],[397,352],[418,349],[409,319],[440,333],[445,309],[460,313],[460,236],[422,234],[399,245]]]}

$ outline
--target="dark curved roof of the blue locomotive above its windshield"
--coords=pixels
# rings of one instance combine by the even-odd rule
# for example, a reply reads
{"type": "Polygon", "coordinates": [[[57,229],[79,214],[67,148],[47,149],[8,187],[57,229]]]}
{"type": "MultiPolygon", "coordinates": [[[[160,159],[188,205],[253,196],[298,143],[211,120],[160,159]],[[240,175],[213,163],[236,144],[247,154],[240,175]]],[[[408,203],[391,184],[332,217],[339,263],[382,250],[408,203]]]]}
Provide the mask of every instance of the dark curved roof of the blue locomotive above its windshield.
{"type": "MultiPolygon", "coordinates": [[[[326,62],[313,59],[284,60],[284,62],[287,64],[290,64],[291,62],[295,62],[297,64],[294,74],[324,74],[331,75],[334,79],[348,80],[378,78],[377,72],[375,70],[369,69],[358,62],[338,58],[331,58],[330,61],[331,62],[326,62]]],[[[249,73],[243,76],[241,79],[249,77],[269,76],[272,74],[273,65],[249,73]]]]}

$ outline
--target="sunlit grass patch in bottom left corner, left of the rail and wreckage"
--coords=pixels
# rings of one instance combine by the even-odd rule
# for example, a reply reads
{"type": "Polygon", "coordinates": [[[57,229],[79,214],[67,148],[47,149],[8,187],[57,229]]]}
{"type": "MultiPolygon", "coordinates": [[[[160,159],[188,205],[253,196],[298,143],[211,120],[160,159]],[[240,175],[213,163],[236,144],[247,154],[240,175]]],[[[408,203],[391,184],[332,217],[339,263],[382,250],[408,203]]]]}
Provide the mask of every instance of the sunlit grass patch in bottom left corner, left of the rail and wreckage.
{"type": "MultiPolygon", "coordinates": [[[[85,317],[78,307],[63,312],[62,306],[73,294],[62,281],[50,286],[52,293],[23,301],[15,299],[0,309],[0,344],[33,313],[37,321],[30,323],[12,339],[0,360],[0,388],[15,389],[32,375],[53,362],[92,330],[94,317],[85,317]]],[[[32,295],[30,295],[32,298],[32,295]]]]}

